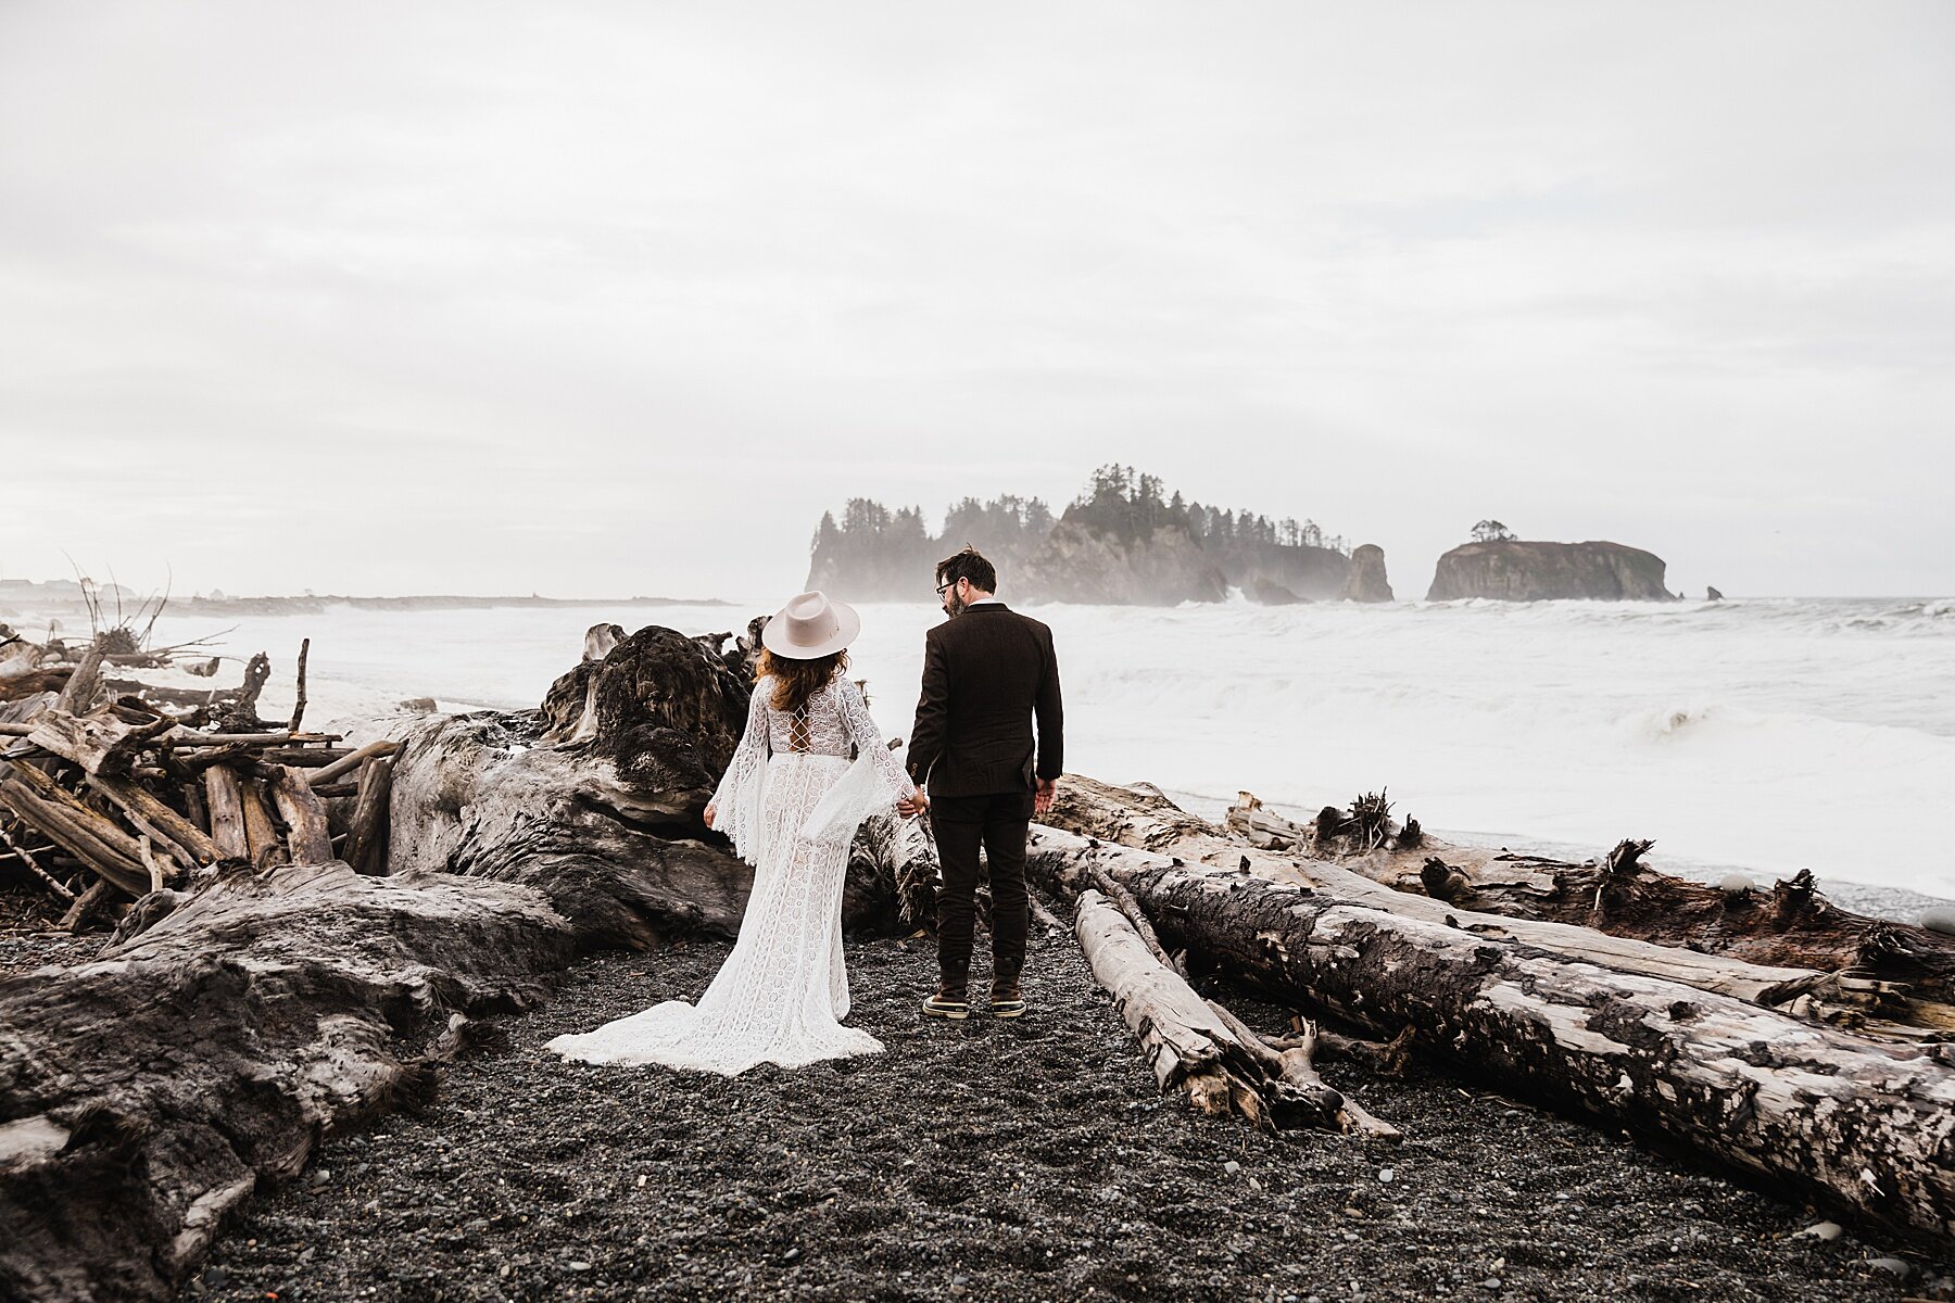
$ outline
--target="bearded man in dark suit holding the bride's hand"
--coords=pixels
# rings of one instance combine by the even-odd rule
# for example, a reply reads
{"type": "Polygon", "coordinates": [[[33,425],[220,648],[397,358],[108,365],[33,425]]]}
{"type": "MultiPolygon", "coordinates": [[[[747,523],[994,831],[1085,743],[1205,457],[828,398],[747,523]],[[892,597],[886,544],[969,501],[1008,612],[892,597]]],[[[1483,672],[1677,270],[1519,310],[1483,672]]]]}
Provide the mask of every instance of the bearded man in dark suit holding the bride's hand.
{"type": "Polygon", "coordinates": [[[1024,1014],[1019,975],[1030,912],[1024,834],[1052,809],[1062,770],[1060,662],[1052,629],[993,598],[997,570],[966,547],[936,565],[948,621],[923,643],[923,697],[909,731],[917,795],[905,815],[933,811],[944,885],[936,897],[936,994],[933,1018],[970,1018],[972,916],[978,848],[991,869],[991,1012],[1024,1014]],[[1038,742],[1032,742],[1032,717],[1038,742]]]}

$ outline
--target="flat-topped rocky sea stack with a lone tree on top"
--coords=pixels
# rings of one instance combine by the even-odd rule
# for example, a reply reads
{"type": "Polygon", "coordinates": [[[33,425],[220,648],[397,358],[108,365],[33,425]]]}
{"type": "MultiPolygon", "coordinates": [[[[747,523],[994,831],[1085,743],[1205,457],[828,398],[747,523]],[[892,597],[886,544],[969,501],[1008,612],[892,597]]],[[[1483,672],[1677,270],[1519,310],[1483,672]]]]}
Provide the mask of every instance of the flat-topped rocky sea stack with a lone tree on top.
{"type": "Polygon", "coordinates": [[[1675,602],[1664,586],[1664,559],[1623,543],[1462,543],[1439,559],[1427,602],[1675,602]]]}

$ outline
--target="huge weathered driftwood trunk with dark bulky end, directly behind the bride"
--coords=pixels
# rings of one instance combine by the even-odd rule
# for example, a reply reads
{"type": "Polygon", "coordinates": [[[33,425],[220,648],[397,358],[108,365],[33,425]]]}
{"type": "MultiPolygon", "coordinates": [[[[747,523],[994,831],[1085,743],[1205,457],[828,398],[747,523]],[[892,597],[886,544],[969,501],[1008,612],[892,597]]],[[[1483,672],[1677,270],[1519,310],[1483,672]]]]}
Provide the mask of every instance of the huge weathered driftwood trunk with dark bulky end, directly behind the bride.
{"type": "MultiPolygon", "coordinates": [[[[747,727],[747,682],[698,639],[649,627],[598,662],[588,703],[592,731],[577,742],[549,742],[543,711],[411,725],[393,772],[393,871],[536,883],[602,946],[731,936],[753,869],[702,815],[747,727]]],[[[925,842],[888,824],[858,836],[845,926],[901,922],[899,881],[915,895],[917,865],[934,871],[925,842]]]]}

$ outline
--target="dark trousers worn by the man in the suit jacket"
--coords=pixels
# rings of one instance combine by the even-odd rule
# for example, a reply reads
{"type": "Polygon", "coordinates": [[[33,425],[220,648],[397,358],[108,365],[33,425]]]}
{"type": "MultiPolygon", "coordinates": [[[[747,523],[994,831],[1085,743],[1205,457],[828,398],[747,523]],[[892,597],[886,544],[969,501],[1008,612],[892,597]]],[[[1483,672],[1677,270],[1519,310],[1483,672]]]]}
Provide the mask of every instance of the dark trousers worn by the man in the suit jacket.
{"type": "Polygon", "coordinates": [[[931,801],[936,860],[944,869],[944,885],[936,893],[936,967],[950,990],[962,990],[970,981],[979,846],[991,867],[991,983],[1013,985],[1024,971],[1024,930],[1030,916],[1024,834],[1030,822],[1030,791],[931,801]]]}

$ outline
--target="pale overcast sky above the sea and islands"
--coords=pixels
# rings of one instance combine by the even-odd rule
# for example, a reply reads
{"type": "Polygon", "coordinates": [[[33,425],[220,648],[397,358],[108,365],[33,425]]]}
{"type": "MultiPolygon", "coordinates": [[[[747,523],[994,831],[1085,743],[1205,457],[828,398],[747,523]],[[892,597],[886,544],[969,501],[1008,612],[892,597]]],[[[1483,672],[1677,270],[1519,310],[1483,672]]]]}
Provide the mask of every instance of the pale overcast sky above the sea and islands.
{"type": "Polygon", "coordinates": [[[0,0],[0,576],[766,598],[1122,461],[1951,594],[1951,359],[1939,0],[0,0]]]}

